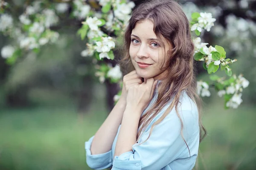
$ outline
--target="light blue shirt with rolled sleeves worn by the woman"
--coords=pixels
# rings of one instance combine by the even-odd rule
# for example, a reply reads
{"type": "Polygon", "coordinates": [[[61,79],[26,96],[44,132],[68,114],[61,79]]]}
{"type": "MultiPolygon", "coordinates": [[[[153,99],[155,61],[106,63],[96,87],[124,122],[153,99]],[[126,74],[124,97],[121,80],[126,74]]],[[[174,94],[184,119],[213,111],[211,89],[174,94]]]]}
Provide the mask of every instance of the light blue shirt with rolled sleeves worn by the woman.
{"type": "MultiPolygon", "coordinates": [[[[145,111],[157,99],[157,91],[145,111]]],[[[122,153],[120,156],[113,156],[115,153],[118,132],[113,141],[112,148],[106,153],[92,155],[90,152],[92,136],[85,142],[86,162],[89,167],[102,170],[112,167],[111,170],[192,170],[198,155],[199,147],[199,123],[198,109],[192,99],[183,92],[180,96],[178,112],[183,121],[183,137],[181,136],[181,122],[175,108],[160,122],[155,125],[151,136],[147,139],[151,126],[169,107],[171,101],[166,105],[146,128],[138,143],[132,146],[133,151],[122,153]]],[[[143,111],[142,115],[145,113],[143,111]]]]}

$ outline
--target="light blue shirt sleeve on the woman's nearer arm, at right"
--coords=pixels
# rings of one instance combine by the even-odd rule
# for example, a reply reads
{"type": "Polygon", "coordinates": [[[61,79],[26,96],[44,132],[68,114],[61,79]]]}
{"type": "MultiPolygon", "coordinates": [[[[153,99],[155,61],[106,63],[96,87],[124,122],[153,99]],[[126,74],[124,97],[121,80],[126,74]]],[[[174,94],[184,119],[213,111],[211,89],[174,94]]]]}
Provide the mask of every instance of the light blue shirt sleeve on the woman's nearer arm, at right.
{"type": "MultiPolygon", "coordinates": [[[[192,169],[195,165],[195,159],[198,153],[199,145],[199,126],[197,113],[192,111],[182,111],[180,117],[183,120],[183,137],[189,146],[191,157],[189,159],[189,150],[181,136],[181,122],[176,111],[171,111],[162,122],[153,127],[151,136],[142,144],[134,144],[133,152],[126,152],[120,156],[115,156],[111,170],[160,170],[170,164],[175,159],[184,155],[188,158],[188,165],[192,169]],[[195,147],[195,148],[192,148],[195,147]]],[[[141,142],[147,139],[150,129],[143,133],[141,142]]],[[[141,143],[139,141],[139,143],[141,143]]],[[[181,165],[182,166],[182,165],[181,165]]],[[[179,169],[176,167],[175,169],[179,169]]],[[[183,168],[182,168],[183,169],[183,168]]],[[[186,170],[188,170],[186,169],[186,170]]],[[[179,169],[180,170],[180,169],[179,169]]]]}

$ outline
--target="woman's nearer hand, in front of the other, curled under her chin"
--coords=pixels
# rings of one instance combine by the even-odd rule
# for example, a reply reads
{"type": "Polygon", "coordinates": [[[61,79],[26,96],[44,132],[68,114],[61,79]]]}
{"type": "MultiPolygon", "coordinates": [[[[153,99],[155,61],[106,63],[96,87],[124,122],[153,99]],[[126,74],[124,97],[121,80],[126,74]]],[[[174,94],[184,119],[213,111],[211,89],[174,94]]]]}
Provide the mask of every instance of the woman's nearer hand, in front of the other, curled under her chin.
{"type": "Polygon", "coordinates": [[[155,87],[157,85],[157,80],[154,81],[153,78],[147,79],[145,81],[146,82],[143,82],[140,85],[134,85],[129,88],[126,98],[126,108],[136,109],[140,114],[151,101],[155,87]]]}

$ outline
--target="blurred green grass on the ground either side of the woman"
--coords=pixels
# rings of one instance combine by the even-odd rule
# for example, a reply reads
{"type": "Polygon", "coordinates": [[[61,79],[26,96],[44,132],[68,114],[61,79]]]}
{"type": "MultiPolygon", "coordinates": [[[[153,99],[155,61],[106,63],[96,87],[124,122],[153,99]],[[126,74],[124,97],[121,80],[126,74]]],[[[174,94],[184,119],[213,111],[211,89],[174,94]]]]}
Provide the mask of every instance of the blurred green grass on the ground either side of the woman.
{"type": "MultiPolygon", "coordinates": [[[[199,170],[255,169],[255,108],[204,106],[208,135],[201,143],[199,170]]],[[[106,118],[103,109],[78,114],[74,106],[0,111],[1,170],[89,170],[84,142],[106,118]]]]}

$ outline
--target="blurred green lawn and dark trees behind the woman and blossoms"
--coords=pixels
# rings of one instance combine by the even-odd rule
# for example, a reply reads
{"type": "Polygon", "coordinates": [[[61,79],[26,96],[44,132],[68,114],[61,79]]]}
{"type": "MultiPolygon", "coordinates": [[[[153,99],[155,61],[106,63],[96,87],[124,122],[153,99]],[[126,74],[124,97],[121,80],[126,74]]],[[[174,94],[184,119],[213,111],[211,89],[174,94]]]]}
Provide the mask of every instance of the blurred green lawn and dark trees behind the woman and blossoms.
{"type": "MultiPolygon", "coordinates": [[[[11,4],[9,12],[18,17],[24,4],[33,0],[6,2],[11,4]]],[[[228,58],[238,59],[231,65],[233,74],[243,74],[250,82],[237,109],[224,109],[224,99],[213,88],[210,97],[203,97],[208,135],[200,145],[195,169],[255,170],[256,1],[178,2],[188,17],[195,11],[212,13],[215,26],[202,34],[203,42],[223,46],[228,58]]],[[[58,26],[51,28],[60,34],[58,42],[25,54],[13,65],[0,57],[0,170],[90,170],[84,142],[108,116],[119,85],[100,83],[92,59],[81,57],[86,46],[76,33],[81,20],[69,14],[59,17],[58,26]]],[[[0,32],[0,49],[12,41],[0,32]]],[[[210,81],[201,64],[197,77],[210,81]]]]}

